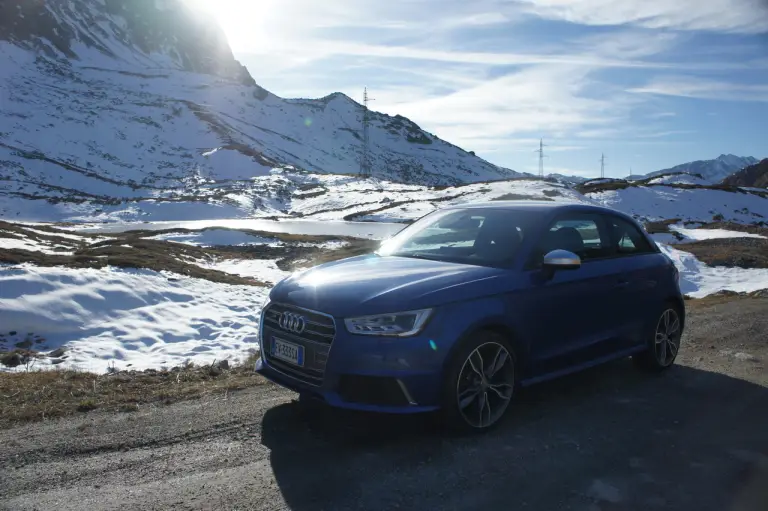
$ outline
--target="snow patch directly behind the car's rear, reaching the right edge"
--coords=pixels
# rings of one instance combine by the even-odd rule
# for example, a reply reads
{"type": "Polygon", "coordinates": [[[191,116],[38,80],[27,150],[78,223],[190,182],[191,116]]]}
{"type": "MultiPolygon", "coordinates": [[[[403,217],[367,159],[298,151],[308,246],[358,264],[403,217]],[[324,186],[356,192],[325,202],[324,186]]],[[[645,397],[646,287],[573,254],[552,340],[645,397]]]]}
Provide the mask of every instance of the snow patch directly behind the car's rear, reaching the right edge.
{"type": "Polygon", "coordinates": [[[662,252],[680,270],[680,289],[693,298],[703,298],[718,291],[750,293],[768,289],[768,269],[712,267],[688,252],[659,244],[662,252]]]}

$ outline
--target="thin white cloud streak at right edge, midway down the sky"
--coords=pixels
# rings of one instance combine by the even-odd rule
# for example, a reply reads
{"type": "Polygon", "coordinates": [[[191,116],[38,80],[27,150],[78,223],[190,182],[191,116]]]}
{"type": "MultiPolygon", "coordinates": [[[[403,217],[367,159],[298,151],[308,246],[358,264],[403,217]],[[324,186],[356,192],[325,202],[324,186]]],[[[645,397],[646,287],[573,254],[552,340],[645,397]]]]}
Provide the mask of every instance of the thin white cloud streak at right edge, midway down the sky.
{"type": "Polygon", "coordinates": [[[693,76],[657,78],[629,92],[722,101],[768,102],[768,85],[708,80],[693,76]]]}

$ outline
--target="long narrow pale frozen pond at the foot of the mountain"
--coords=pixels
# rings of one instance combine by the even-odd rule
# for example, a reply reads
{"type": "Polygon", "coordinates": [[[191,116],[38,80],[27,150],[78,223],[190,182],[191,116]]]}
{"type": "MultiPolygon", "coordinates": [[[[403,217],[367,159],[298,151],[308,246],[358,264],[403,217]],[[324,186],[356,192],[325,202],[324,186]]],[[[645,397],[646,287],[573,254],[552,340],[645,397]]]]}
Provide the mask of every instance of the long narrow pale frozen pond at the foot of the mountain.
{"type": "Polygon", "coordinates": [[[353,238],[385,239],[405,227],[399,223],[344,222],[318,220],[190,220],[185,222],[127,222],[110,224],[85,224],[69,227],[76,231],[95,233],[117,233],[134,230],[161,231],[165,229],[205,229],[223,227],[227,229],[249,229],[253,231],[282,232],[288,234],[315,234],[327,236],[350,236],[353,238]]]}

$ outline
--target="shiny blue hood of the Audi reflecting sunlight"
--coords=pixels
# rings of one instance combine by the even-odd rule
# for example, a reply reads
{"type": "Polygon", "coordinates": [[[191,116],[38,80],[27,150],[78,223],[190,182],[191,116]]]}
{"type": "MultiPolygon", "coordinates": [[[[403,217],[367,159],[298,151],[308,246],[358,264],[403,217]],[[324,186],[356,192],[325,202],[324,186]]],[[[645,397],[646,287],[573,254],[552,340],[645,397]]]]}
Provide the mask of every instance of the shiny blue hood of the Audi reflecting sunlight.
{"type": "Polygon", "coordinates": [[[508,271],[371,254],[294,274],[270,298],[338,317],[398,312],[489,294],[489,280],[508,271]]]}

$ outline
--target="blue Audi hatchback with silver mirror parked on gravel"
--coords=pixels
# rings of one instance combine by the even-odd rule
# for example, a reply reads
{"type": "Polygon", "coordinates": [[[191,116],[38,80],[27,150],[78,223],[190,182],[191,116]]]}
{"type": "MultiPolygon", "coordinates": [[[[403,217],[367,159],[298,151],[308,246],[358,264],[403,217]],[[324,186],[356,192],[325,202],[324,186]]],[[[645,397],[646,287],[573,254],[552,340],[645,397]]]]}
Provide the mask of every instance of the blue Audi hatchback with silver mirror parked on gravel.
{"type": "Polygon", "coordinates": [[[516,389],[680,347],[672,261],[631,217],[582,204],[492,202],[431,213],[373,254],[280,282],[256,370],[357,410],[439,410],[485,430],[516,389]]]}

